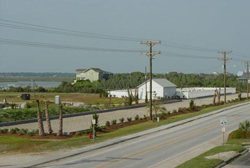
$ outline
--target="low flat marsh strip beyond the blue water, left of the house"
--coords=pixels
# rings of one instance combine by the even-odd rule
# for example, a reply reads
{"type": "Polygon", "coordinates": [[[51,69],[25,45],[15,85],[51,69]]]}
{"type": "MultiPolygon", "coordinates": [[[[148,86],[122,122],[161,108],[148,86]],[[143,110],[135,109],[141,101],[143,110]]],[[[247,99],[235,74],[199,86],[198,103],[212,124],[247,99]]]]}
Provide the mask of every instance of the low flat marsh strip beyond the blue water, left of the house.
{"type": "Polygon", "coordinates": [[[0,82],[40,81],[40,82],[73,82],[74,77],[0,77],[0,82]]]}

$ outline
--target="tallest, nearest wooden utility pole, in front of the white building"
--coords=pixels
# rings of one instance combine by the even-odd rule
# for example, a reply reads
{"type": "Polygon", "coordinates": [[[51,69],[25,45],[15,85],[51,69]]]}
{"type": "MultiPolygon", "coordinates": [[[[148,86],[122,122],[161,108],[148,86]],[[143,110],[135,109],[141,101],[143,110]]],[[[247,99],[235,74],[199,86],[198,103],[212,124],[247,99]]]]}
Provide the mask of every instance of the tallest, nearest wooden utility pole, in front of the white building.
{"type": "Polygon", "coordinates": [[[149,57],[149,67],[150,67],[150,72],[149,72],[149,79],[150,79],[150,86],[149,86],[149,109],[150,109],[150,120],[153,121],[153,116],[152,116],[152,58],[153,56],[157,54],[161,54],[161,52],[153,52],[153,46],[156,44],[161,44],[161,41],[146,41],[146,42],[141,42],[141,44],[149,46],[149,52],[147,53],[141,53],[141,55],[146,55],[149,57]]]}

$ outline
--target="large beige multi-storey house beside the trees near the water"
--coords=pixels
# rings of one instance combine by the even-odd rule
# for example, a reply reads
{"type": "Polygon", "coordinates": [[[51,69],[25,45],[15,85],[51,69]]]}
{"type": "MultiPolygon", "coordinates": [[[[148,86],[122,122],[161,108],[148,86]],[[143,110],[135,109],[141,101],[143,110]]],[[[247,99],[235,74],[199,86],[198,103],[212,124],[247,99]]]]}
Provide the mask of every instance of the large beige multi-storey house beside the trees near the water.
{"type": "Polygon", "coordinates": [[[76,80],[74,81],[74,83],[79,80],[89,80],[93,82],[102,79],[108,79],[111,76],[113,76],[113,73],[103,71],[99,68],[77,69],[76,80]]]}

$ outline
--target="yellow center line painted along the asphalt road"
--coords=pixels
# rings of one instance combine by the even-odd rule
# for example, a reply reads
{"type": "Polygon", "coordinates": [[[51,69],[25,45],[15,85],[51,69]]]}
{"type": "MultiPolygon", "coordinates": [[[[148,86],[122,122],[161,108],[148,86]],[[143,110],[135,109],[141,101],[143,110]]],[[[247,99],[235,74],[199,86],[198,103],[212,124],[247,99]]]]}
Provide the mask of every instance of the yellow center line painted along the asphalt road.
{"type": "MultiPolygon", "coordinates": [[[[231,117],[231,118],[229,118],[229,121],[230,121],[230,120],[233,120],[233,119],[237,119],[237,118],[239,118],[239,117],[240,117],[240,116],[231,117]]],[[[187,137],[193,136],[193,135],[198,134],[198,133],[200,133],[200,132],[204,132],[204,131],[209,130],[209,129],[211,129],[211,128],[215,128],[215,127],[217,127],[218,125],[219,125],[218,123],[213,124],[213,125],[210,125],[210,126],[208,126],[208,127],[205,127],[205,128],[203,128],[203,129],[200,129],[200,130],[197,130],[197,131],[194,131],[194,132],[191,132],[191,133],[186,134],[186,135],[184,135],[184,136],[181,136],[181,137],[178,137],[178,138],[174,138],[174,139],[172,139],[172,140],[170,140],[170,141],[168,141],[168,142],[164,142],[164,143],[161,143],[161,144],[159,144],[159,145],[153,146],[153,147],[151,147],[151,148],[148,148],[148,149],[139,151],[139,152],[137,152],[137,153],[134,153],[134,154],[131,154],[131,155],[128,155],[128,156],[124,156],[124,157],[122,157],[122,158],[120,158],[120,159],[116,159],[116,160],[113,160],[113,161],[111,161],[111,162],[102,164],[102,165],[100,165],[100,166],[98,166],[98,167],[96,167],[96,168],[103,168],[103,167],[106,167],[106,166],[115,164],[115,163],[117,163],[117,162],[120,162],[120,161],[122,161],[122,160],[132,158],[132,157],[137,156],[137,155],[139,155],[139,154],[143,154],[143,153],[146,153],[146,152],[149,152],[149,151],[158,149],[158,148],[160,148],[160,147],[169,145],[169,144],[174,143],[174,142],[179,141],[179,140],[183,140],[183,139],[185,139],[185,138],[187,138],[187,137]]]]}

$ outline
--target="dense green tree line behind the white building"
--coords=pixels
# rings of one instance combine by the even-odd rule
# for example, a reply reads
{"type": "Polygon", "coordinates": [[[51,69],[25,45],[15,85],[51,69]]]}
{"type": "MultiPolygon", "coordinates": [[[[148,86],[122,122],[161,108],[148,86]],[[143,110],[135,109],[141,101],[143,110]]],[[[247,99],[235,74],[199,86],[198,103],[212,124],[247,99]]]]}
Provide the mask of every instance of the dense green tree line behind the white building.
{"type": "MultiPolygon", "coordinates": [[[[149,75],[145,75],[142,72],[133,73],[119,73],[115,74],[108,80],[101,81],[78,81],[74,85],[70,82],[62,82],[58,87],[47,90],[43,87],[36,88],[37,92],[82,92],[82,93],[104,93],[108,90],[120,90],[128,88],[136,88],[142,84],[146,79],[149,79],[149,75]]],[[[184,87],[224,87],[223,74],[184,74],[177,72],[170,72],[166,74],[153,74],[153,78],[165,78],[170,82],[177,85],[178,88],[184,87]]],[[[246,91],[246,82],[237,81],[236,75],[228,75],[226,86],[236,87],[237,91],[246,91]]],[[[11,92],[27,92],[34,91],[32,88],[10,88],[11,92]]]]}

